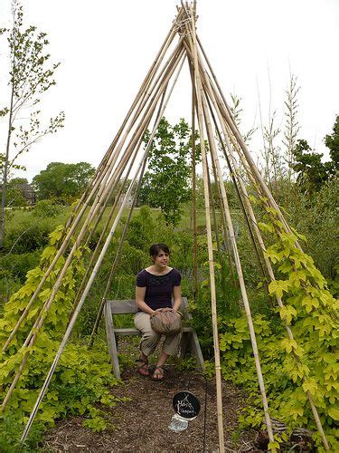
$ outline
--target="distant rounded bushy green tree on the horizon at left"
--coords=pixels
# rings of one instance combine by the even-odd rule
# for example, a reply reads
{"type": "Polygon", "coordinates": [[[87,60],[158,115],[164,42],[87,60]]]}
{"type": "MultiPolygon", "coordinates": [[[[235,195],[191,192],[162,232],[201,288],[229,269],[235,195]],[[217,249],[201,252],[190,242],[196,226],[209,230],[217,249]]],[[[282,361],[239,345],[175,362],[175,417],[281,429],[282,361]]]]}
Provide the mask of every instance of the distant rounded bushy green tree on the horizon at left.
{"type": "Polygon", "coordinates": [[[51,162],[34,176],[32,185],[39,199],[55,198],[59,202],[70,203],[80,196],[94,172],[94,167],[88,162],[51,162]]]}

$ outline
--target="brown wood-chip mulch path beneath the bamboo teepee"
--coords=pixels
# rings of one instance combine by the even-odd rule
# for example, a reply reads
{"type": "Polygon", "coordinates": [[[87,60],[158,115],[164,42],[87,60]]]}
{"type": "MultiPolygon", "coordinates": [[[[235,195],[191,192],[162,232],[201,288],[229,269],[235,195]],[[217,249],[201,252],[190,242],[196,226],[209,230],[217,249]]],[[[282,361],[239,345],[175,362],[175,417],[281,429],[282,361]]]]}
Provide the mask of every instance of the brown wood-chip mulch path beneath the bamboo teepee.
{"type": "MultiPolygon", "coordinates": [[[[194,371],[179,371],[174,365],[165,368],[166,379],[155,382],[137,375],[135,370],[124,371],[125,384],[112,389],[112,393],[124,399],[115,408],[105,410],[108,429],[95,433],[82,427],[83,418],[74,417],[57,422],[44,439],[42,448],[48,451],[202,451],[203,412],[205,381],[196,376],[189,390],[201,402],[202,410],[189,422],[188,429],[175,433],[168,428],[174,415],[174,394],[187,390],[187,383],[194,371]],[[127,399],[127,400],[126,400],[127,399]]],[[[222,383],[223,426],[226,451],[260,451],[254,447],[256,432],[240,436],[237,445],[231,436],[237,428],[237,413],[244,406],[240,390],[228,382],[222,383]]],[[[206,451],[218,450],[215,381],[208,380],[206,451]]]]}

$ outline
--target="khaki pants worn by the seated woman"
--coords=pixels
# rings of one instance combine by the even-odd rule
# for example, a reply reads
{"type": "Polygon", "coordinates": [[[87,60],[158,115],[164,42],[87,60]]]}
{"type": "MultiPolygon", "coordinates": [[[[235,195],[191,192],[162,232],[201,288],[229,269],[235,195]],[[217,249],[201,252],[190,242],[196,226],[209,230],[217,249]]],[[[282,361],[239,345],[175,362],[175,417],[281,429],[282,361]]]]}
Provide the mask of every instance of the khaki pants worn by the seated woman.
{"type": "MultiPolygon", "coordinates": [[[[142,333],[140,342],[140,351],[144,352],[146,356],[155,352],[155,348],[160,342],[161,333],[156,333],[150,322],[150,315],[145,312],[138,312],[134,317],[134,323],[142,333]]],[[[168,355],[175,355],[178,351],[179,344],[181,341],[182,333],[174,333],[174,335],[166,335],[163,345],[163,351],[168,355]]]]}

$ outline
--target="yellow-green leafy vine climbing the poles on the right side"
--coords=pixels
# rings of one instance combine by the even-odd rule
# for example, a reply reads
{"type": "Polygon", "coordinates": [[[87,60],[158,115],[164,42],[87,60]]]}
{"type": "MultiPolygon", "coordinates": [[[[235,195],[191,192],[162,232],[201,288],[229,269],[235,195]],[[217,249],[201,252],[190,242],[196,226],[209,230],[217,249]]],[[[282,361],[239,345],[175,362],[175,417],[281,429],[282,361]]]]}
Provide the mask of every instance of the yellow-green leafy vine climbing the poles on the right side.
{"type": "MultiPolygon", "coordinates": [[[[335,312],[338,301],[327,289],[323,275],[313,259],[297,246],[303,236],[287,234],[278,220],[277,211],[265,206],[265,222],[259,227],[270,238],[267,256],[277,268],[277,280],[269,284],[270,294],[283,300],[276,308],[280,319],[287,323],[294,339],[289,340],[283,325],[273,317],[254,317],[259,355],[273,418],[282,419],[287,428],[297,426],[316,429],[307,402],[309,391],[315,401],[325,433],[335,450],[334,439],[338,403],[337,377],[339,367],[335,351],[338,347],[339,323],[335,312]]],[[[262,423],[258,378],[252,357],[250,334],[245,316],[234,317],[225,323],[221,333],[222,373],[249,392],[249,407],[241,415],[245,426],[262,423]]],[[[319,439],[318,448],[321,449],[319,439]]]]}

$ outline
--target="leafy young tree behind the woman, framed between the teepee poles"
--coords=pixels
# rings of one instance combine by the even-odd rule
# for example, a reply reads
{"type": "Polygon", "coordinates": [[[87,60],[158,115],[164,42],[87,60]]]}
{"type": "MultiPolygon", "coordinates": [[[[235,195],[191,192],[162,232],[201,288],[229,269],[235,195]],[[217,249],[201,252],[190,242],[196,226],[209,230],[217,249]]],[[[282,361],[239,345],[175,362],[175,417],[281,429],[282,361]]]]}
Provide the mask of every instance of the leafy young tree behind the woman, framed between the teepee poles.
{"type": "MultiPolygon", "coordinates": [[[[145,143],[149,140],[146,134],[145,143]]],[[[148,156],[148,170],[139,203],[160,207],[167,224],[174,226],[182,215],[181,205],[191,198],[191,128],[181,119],[171,124],[162,118],[148,156]]]]}

